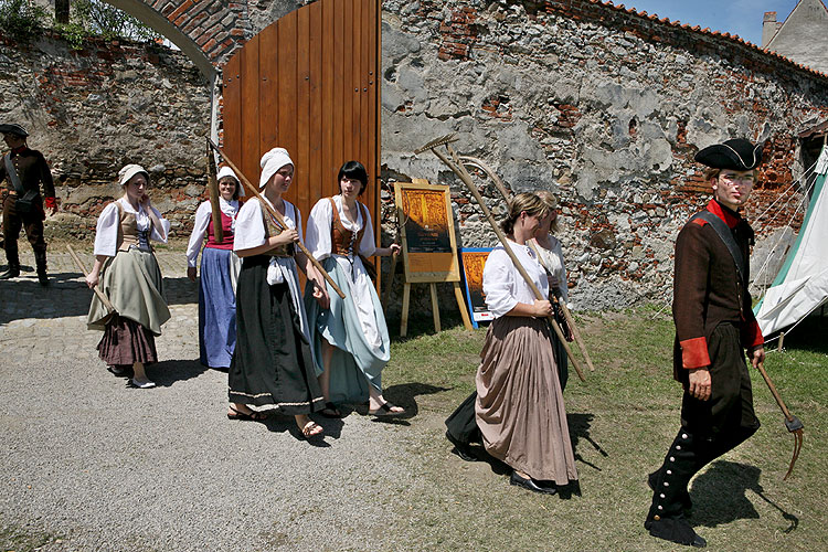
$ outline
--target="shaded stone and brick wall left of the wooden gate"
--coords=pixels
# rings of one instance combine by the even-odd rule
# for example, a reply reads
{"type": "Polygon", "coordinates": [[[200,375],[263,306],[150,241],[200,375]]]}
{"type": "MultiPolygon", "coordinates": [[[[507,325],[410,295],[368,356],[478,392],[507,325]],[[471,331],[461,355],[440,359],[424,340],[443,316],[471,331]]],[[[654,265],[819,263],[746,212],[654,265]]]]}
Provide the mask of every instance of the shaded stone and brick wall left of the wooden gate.
{"type": "Polygon", "coordinates": [[[19,121],[52,167],[61,212],[47,234],[92,237],[103,206],[123,192],[117,171],[150,172],[153,204],[185,235],[203,198],[210,94],[180,52],[89,40],[83,50],[0,35],[0,120],[19,121]]]}

